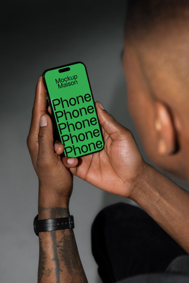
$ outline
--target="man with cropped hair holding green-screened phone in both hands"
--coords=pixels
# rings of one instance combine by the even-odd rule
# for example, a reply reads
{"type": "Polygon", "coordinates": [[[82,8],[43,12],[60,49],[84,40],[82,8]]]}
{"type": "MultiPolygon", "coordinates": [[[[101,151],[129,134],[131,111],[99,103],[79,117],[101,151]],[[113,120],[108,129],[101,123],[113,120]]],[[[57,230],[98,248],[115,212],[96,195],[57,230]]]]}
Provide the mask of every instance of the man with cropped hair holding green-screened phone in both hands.
{"type": "MultiPolygon", "coordinates": [[[[127,15],[123,67],[129,111],[151,160],[188,181],[189,3],[133,0],[127,15]]],[[[53,141],[39,78],[27,138],[39,178],[38,219],[69,215],[73,175],[78,176],[144,209],[119,203],[94,220],[92,250],[103,282],[188,282],[188,191],[145,163],[132,133],[101,103],[96,108],[104,149],[79,160],[61,158],[64,146],[53,141]]],[[[73,229],[40,232],[39,243],[38,282],[87,282],[73,229]]]]}

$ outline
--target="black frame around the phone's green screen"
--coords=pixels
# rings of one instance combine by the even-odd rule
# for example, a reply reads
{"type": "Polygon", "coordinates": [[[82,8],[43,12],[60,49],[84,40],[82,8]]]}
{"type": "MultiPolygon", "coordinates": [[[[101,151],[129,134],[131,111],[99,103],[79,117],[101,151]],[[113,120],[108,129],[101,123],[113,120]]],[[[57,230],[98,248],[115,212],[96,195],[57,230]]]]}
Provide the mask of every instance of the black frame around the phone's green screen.
{"type": "MultiPolygon", "coordinates": [[[[42,74],[42,78],[43,78],[43,83],[45,85],[45,91],[46,91],[46,94],[47,94],[47,99],[48,99],[48,102],[49,102],[49,105],[50,105],[50,108],[51,108],[51,113],[52,113],[52,116],[53,116],[53,120],[54,120],[54,123],[55,123],[55,127],[56,127],[56,131],[57,131],[57,134],[58,134],[58,138],[59,138],[59,141],[64,144],[62,142],[62,139],[60,137],[60,134],[59,134],[59,131],[58,131],[58,126],[57,126],[57,122],[56,122],[56,118],[55,118],[55,115],[54,115],[54,111],[53,111],[53,106],[52,106],[52,103],[51,103],[51,98],[49,96],[49,91],[48,91],[48,88],[47,88],[47,83],[45,81],[45,73],[47,71],[51,71],[51,70],[55,70],[55,69],[60,69],[60,68],[64,68],[64,67],[67,67],[67,66],[71,66],[71,65],[75,65],[75,64],[83,64],[84,67],[85,67],[85,71],[86,71],[86,75],[87,75],[87,79],[88,79],[88,83],[89,83],[89,87],[90,87],[90,92],[91,92],[91,96],[92,96],[92,100],[93,100],[93,104],[94,104],[94,109],[95,109],[95,112],[96,112],[96,115],[97,115],[97,120],[98,120],[98,123],[99,123],[99,128],[100,128],[100,133],[101,133],[101,137],[102,137],[102,140],[103,140],[103,147],[99,150],[96,150],[94,152],[90,152],[90,153],[87,153],[87,154],[83,154],[83,155],[79,155],[77,156],[76,158],[79,158],[79,157],[83,157],[83,156],[86,156],[86,155],[89,155],[89,154],[93,154],[93,153],[96,153],[96,152],[99,152],[101,150],[103,150],[104,148],[104,137],[103,137],[103,134],[102,134],[102,129],[101,129],[101,125],[100,125],[100,122],[99,122],[99,118],[98,118],[98,114],[97,114],[97,109],[96,109],[96,106],[95,106],[95,102],[94,102],[94,97],[93,97],[93,94],[92,94],[92,89],[91,89],[91,85],[90,85],[90,81],[89,81],[89,77],[88,77],[88,72],[87,72],[87,68],[85,66],[85,64],[81,61],[78,61],[78,62],[74,62],[74,63],[71,63],[71,64],[66,64],[66,65],[62,65],[62,66],[58,66],[58,67],[54,67],[54,68],[50,68],[50,69],[47,69],[43,72],[42,74]]],[[[64,145],[65,146],[65,145],[64,145]]],[[[62,154],[60,154],[61,157],[68,157],[68,156],[65,156],[64,152],[62,154]]],[[[74,157],[74,156],[73,156],[74,157]]],[[[71,158],[71,157],[69,157],[71,158]]]]}

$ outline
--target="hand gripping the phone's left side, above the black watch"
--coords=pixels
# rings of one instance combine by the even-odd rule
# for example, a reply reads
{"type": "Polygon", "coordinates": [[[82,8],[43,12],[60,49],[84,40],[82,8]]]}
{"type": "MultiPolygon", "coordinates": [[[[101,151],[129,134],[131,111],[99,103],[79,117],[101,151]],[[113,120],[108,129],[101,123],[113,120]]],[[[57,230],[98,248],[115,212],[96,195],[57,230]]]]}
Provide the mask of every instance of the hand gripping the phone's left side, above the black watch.
{"type": "MultiPolygon", "coordinates": [[[[73,176],[68,170],[71,165],[65,167],[60,157],[64,145],[58,140],[55,140],[55,143],[59,145],[57,153],[54,150],[52,121],[47,113],[45,87],[40,76],[36,87],[27,147],[39,179],[39,205],[66,207],[73,190],[73,176]]],[[[68,157],[63,158],[68,159],[68,157]]],[[[72,166],[77,163],[78,159],[74,158],[72,166]]]]}

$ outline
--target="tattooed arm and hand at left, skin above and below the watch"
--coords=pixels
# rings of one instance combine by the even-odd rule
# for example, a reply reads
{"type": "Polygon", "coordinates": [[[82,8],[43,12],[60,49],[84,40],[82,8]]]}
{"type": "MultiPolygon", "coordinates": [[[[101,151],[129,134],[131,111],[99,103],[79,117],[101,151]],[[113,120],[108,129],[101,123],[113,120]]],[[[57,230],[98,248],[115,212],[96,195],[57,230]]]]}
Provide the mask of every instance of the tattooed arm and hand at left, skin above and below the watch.
{"type": "MultiPolygon", "coordinates": [[[[68,205],[73,190],[73,175],[62,163],[60,155],[54,151],[53,126],[47,114],[44,91],[40,77],[27,138],[27,146],[39,179],[38,219],[70,215],[68,205]],[[47,126],[40,127],[42,114],[47,118],[47,126]]],[[[73,229],[40,232],[39,246],[38,282],[87,282],[73,229]]]]}

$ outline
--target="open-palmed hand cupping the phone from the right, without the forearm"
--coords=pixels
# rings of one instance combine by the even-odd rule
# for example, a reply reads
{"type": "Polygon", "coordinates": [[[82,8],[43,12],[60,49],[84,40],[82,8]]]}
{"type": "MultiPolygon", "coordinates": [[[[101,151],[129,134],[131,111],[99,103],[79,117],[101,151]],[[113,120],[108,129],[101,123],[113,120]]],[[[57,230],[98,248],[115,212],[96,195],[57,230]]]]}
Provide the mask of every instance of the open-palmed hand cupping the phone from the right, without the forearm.
{"type": "MultiPolygon", "coordinates": [[[[94,187],[130,198],[149,165],[142,158],[131,131],[119,124],[98,101],[95,104],[104,149],[81,157],[69,171],[94,187]]],[[[62,160],[69,166],[64,158],[62,160]]]]}

